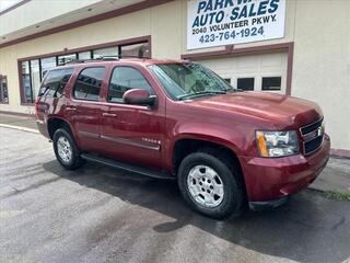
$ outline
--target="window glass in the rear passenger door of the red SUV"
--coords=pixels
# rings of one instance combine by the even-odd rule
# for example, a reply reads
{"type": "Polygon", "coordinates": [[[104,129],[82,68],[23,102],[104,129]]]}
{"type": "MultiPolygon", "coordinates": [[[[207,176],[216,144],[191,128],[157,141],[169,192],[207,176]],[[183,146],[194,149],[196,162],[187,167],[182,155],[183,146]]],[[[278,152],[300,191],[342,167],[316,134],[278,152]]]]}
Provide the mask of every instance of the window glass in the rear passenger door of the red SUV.
{"type": "Polygon", "coordinates": [[[83,69],[78,76],[74,85],[74,98],[78,100],[98,101],[104,75],[104,67],[83,69]]]}

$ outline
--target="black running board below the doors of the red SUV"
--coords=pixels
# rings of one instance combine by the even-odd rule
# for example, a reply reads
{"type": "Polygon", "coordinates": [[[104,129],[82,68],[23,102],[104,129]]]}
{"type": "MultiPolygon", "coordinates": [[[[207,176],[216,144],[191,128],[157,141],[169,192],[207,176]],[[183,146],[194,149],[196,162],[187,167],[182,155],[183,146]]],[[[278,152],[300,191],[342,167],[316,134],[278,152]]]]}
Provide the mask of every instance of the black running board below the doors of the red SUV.
{"type": "Polygon", "coordinates": [[[175,176],[172,176],[171,174],[167,174],[162,171],[152,170],[149,168],[143,168],[143,167],[136,165],[136,164],[125,163],[125,162],[116,161],[110,158],[95,156],[92,153],[81,153],[81,158],[86,161],[102,163],[102,164],[105,164],[108,167],[122,169],[122,170],[126,170],[129,172],[135,172],[135,173],[142,174],[142,175],[150,176],[150,178],[175,180],[175,176]]]}

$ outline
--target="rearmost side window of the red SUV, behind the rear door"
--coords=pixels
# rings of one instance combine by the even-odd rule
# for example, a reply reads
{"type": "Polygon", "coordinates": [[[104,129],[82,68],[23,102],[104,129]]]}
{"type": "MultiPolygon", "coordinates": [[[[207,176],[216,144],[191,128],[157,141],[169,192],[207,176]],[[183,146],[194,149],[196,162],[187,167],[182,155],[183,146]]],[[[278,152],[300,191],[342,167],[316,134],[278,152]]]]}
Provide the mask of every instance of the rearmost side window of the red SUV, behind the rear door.
{"type": "Polygon", "coordinates": [[[50,70],[42,83],[39,96],[61,96],[67,82],[73,73],[72,68],[50,70]]]}

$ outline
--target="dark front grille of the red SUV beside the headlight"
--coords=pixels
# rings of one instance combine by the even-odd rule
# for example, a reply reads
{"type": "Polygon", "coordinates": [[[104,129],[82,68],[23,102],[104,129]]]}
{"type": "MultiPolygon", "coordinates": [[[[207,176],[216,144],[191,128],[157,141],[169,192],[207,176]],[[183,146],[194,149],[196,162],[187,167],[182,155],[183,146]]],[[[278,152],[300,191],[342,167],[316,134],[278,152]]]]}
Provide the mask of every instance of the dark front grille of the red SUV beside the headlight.
{"type": "Polygon", "coordinates": [[[318,150],[324,141],[323,118],[300,128],[303,137],[304,155],[308,156],[318,150]]]}

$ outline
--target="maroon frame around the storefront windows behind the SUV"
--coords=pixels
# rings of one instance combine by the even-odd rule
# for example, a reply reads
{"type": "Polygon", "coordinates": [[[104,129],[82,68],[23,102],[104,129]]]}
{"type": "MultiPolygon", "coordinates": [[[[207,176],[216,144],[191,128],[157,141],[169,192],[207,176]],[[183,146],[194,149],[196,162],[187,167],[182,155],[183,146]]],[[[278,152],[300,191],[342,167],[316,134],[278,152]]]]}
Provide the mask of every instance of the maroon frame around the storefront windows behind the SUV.
{"type": "Polygon", "coordinates": [[[22,106],[33,106],[34,105],[34,103],[24,102],[25,100],[24,100],[24,90],[23,90],[23,84],[22,84],[22,65],[21,65],[22,61],[26,61],[26,60],[31,60],[31,59],[38,59],[38,58],[46,58],[46,57],[54,57],[54,56],[61,56],[61,55],[67,55],[67,54],[72,54],[72,53],[80,53],[80,52],[106,48],[106,47],[112,47],[112,46],[132,45],[132,44],[139,44],[139,43],[148,43],[149,44],[149,46],[150,46],[149,56],[152,57],[152,37],[151,37],[151,35],[147,35],[147,36],[140,36],[140,37],[135,37],[135,38],[129,38],[129,39],[122,39],[122,41],[108,42],[108,43],[84,46],[84,47],[79,47],[79,48],[72,48],[72,49],[65,48],[65,50],[62,50],[62,52],[55,52],[55,53],[49,53],[49,54],[44,54],[44,55],[36,55],[36,56],[31,56],[31,57],[19,58],[18,59],[18,72],[19,72],[19,87],[20,87],[21,105],[22,106]]]}

